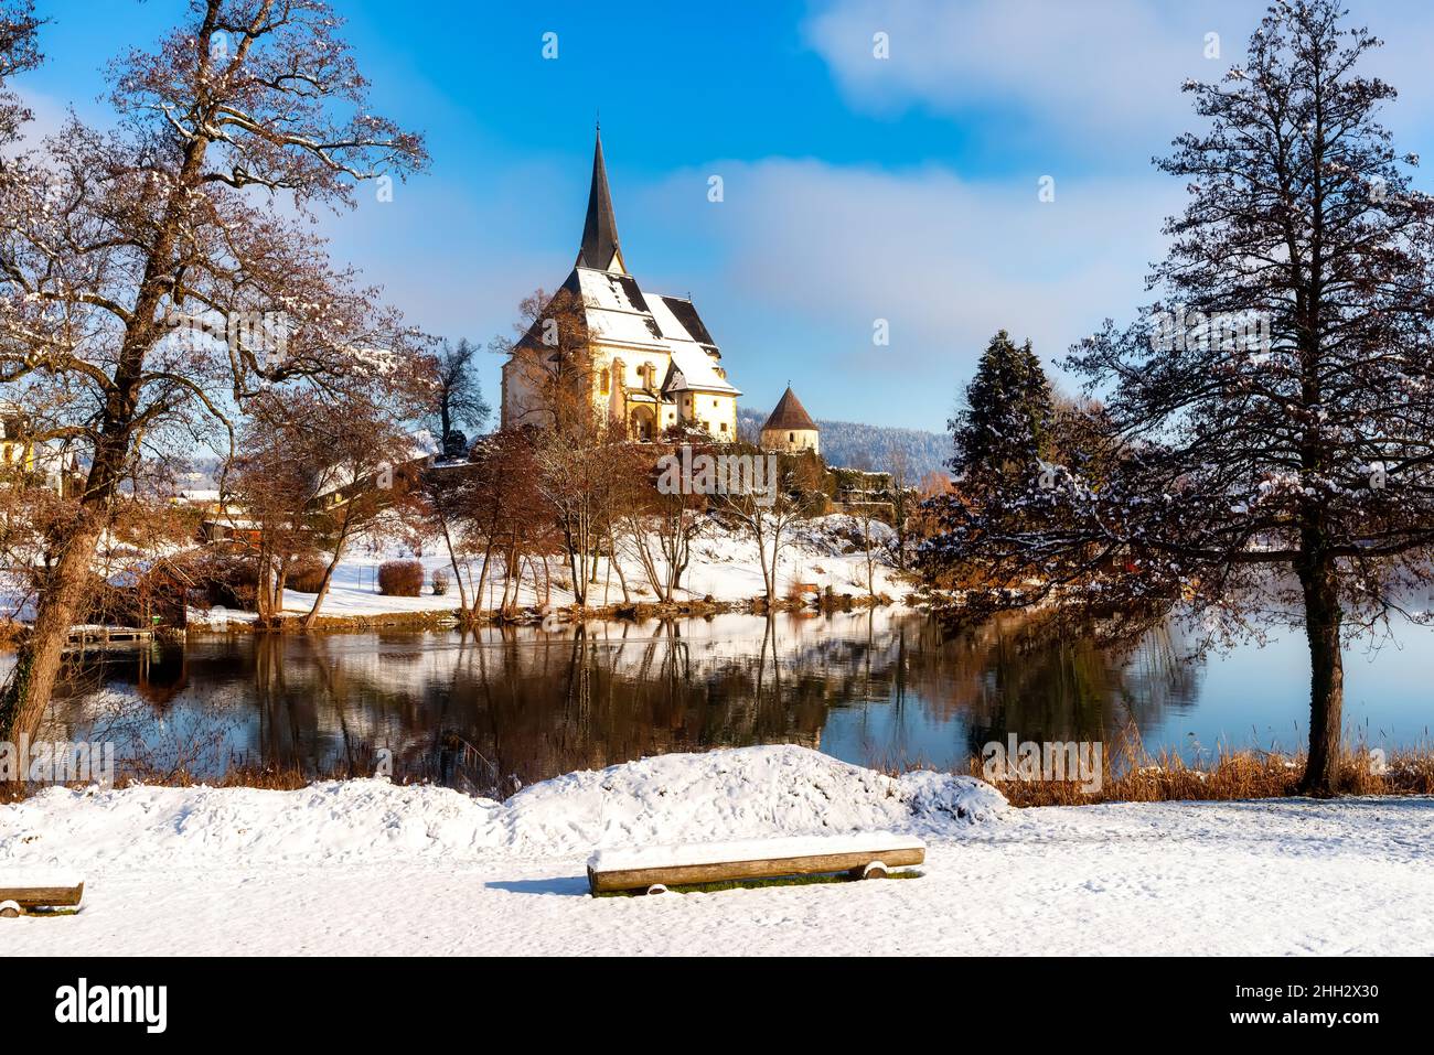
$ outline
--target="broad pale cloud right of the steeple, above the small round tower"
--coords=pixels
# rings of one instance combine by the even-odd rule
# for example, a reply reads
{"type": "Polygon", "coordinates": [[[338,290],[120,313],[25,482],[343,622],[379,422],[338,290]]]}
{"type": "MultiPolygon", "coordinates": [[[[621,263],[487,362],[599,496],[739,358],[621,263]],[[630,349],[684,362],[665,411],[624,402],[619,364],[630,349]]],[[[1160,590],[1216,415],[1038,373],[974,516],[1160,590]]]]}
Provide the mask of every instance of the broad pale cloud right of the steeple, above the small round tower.
{"type": "Polygon", "coordinates": [[[1048,361],[1106,315],[1129,318],[1182,196],[1176,181],[1101,179],[1057,182],[1041,202],[1035,173],[981,182],[769,159],[678,173],[640,212],[688,245],[683,281],[718,291],[698,301],[734,376],[750,363],[806,378],[803,398],[825,386],[846,406],[822,416],[939,427],[998,328],[1048,361]],[[694,194],[707,172],[724,176],[720,205],[694,194]],[[706,275],[691,272],[700,261],[706,275]],[[878,318],[889,347],[872,343],[878,318]]]}

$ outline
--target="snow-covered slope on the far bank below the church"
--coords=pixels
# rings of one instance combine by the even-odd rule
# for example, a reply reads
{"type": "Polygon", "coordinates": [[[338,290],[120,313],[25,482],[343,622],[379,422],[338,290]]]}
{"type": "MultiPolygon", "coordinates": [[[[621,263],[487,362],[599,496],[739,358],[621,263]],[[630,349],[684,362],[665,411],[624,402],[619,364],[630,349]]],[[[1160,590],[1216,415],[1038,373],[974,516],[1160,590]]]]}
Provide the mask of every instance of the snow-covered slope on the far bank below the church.
{"type": "MultiPolygon", "coordinates": [[[[836,593],[850,593],[865,596],[868,589],[866,553],[863,528],[858,517],[845,513],[813,517],[796,523],[789,536],[784,536],[782,556],[777,565],[779,589],[784,595],[793,582],[810,583],[817,589],[830,586],[836,593]]],[[[880,546],[891,540],[892,529],[880,522],[870,525],[873,546],[880,546]]],[[[354,550],[338,565],[328,596],[320,609],[321,615],[330,616],[376,616],[412,612],[442,612],[456,611],[459,606],[457,588],[450,585],[443,596],[433,596],[433,572],[442,571],[450,579],[453,576],[452,563],[442,543],[429,546],[419,558],[423,562],[426,581],[423,596],[390,598],[377,592],[377,569],[384,560],[413,559],[410,550],[399,550],[393,546],[379,546],[367,549],[356,546],[354,550]]],[[[469,588],[469,599],[478,598],[478,575],[482,571],[480,559],[465,559],[460,566],[465,571],[465,582],[469,588]]],[[[564,608],[574,602],[571,575],[566,565],[559,558],[549,562],[552,576],[552,592],[548,602],[555,608],[564,608]],[[564,583],[568,583],[566,586],[564,583]]],[[[637,558],[628,553],[622,559],[622,571],[627,575],[628,586],[632,591],[632,601],[654,602],[657,596],[647,583],[637,558]]],[[[911,585],[896,578],[895,569],[878,553],[873,566],[875,592],[886,593],[899,601],[911,591],[911,585]]],[[[683,576],[684,589],[677,592],[677,601],[703,599],[711,596],[720,602],[750,601],[766,592],[761,581],[761,565],[757,563],[756,543],[743,532],[727,532],[716,525],[708,526],[693,543],[693,559],[683,576]]],[[[502,593],[502,568],[496,560],[489,568],[489,576],[479,608],[488,611],[498,606],[502,593]]],[[[533,582],[533,571],[523,566],[523,582],[519,588],[519,606],[536,608],[542,603],[542,589],[533,582]]],[[[284,611],[303,614],[314,603],[313,593],[285,591],[284,611]]],[[[608,573],[607,562],[598,566],[598,586],[592,588],[588,603],[594,606],[622,603],[622,586],[617,572],[608,573]]],[[[214,618],[237,621],[244,618],[237,612],[219,612],[214,618]]],[[[192,622],[205,622],[202,614],[191,616],[192,622]]]]}

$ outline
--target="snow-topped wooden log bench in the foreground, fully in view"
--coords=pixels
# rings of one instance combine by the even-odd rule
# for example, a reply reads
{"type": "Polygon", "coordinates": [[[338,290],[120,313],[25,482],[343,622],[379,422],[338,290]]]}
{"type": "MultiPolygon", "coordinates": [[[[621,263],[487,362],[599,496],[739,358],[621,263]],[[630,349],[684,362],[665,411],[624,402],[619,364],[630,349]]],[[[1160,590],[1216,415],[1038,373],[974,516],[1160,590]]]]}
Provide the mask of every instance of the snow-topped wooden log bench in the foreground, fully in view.
{"type": "Polygon", "coordinates": [[[925,859],[926,844],[919,839],[888,831],[598,850],[588,859],[588,889],[594,894],[657,893],[668,886],[842,872],[852,879],[879,879],[925,859]]]}

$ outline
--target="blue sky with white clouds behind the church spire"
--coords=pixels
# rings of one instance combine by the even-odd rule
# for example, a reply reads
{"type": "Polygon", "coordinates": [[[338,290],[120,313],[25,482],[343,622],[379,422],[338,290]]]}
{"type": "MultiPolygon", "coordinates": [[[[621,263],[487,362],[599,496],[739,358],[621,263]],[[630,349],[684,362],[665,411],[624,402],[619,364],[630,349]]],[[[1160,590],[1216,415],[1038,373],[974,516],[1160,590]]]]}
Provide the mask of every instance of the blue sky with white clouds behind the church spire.
{"type": "MultiPolygon", "coordinates": [[[[98,122],[102,69],[182,0],[39,0],[39,128],[98,122]]],[[[1262,4],[1157,0],[483,4],[336,0],[377,112],[427,133],[432,171],[326,218],[334,254],[432,333],[486,341],[576,254],[601,108],[628,267],[691,294],[766,411],[944,429],[997,328],[1047,360],[1129,314],[1182,188],[1150,166],[1192,123],[1262,4]],[[543,33],[558,57],[542,57],[543,33]],[[889,57],[873,56],[886,33],[889,57]],[[1209,59],[1209,36],[1219,57],[1209,59]],[[724,201],[707,198],[720,175],[724,201]],[[1038,199],[1051,176],[1055,199],[1038,199]],[[886,320],[889,345],[872,341],[886,320]]],[[[1352,0],[1390,44],[1401,149],[1434,138],[1434,13],[1352,0]]],[[[1428,189],[1427,176],[1418,181],[1428,189]]],[[[498,361],[485,387],[496,396],[498,361]]]]}

